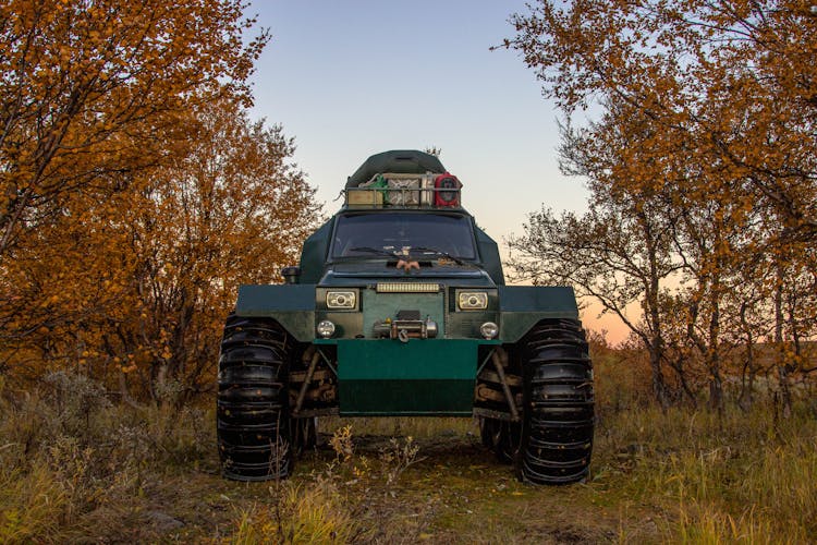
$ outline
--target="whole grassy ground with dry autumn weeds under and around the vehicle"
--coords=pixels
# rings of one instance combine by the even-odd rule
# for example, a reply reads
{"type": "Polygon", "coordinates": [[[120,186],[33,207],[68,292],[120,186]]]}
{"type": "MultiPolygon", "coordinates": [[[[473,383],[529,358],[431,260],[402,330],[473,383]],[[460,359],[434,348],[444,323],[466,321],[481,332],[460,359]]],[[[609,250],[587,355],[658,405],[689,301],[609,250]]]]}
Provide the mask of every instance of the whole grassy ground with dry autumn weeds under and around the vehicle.
{"type": "Polygon", "coordinates": [[[777,420],[764,403],[719,415],[600,396],[590,479],[559,487],[519,483],[470,419],[329,419],[290,480],[236,483],[209,408],[136,410],[60,380],[0,392],[2,543],[817,540],[806,403],[777,420]]]}

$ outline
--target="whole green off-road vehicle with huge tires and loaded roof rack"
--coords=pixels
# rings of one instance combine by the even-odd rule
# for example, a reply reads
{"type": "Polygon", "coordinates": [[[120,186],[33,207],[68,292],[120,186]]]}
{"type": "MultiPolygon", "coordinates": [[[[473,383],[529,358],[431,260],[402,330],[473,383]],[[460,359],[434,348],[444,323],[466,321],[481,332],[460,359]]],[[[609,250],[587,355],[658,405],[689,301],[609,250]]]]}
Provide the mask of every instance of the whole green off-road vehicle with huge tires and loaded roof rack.
{"type": "Polygon", "coordinates": [[[521,480],[587,475],[593,370],[573,290],[505,286],[461,193],[432,155],[371,156],[285,283],[240,288],[219,361],[224,476],[286,476],[330,414],[477,417],[521,480]]]}

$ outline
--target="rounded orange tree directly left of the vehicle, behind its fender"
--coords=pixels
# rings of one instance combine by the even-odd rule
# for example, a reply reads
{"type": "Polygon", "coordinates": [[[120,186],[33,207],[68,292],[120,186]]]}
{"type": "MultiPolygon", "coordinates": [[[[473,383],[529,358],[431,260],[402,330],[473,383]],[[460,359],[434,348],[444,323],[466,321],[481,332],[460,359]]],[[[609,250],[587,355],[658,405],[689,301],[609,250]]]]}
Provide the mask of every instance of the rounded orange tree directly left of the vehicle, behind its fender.
{"type": "Polygon", "coordinates": [[[107,356],[142,354],[130,368],[154,397],[215,384],[239,284],[280,281],[319,218],[280,126],[252,122],[230,104],[208,107],[199,121],[187,157],[151,172],[124,210],[137,303],[102,331],[107,356]]]}

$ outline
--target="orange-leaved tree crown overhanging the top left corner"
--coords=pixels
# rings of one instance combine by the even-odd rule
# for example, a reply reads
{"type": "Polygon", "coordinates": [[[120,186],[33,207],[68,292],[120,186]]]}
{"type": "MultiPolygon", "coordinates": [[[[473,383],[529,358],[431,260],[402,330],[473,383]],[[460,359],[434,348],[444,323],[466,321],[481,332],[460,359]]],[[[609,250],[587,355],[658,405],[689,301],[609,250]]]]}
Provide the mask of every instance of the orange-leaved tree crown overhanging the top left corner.
{"type": "MultiPolygon", "coordinates": [[[[122,191],[187,138],[191,109],[248,100],[267,41],[239,0],[0,5],[0,259],[72,195],[122,191]]],[[[1,263],[1,262],[0,262],[1,263]]]]}

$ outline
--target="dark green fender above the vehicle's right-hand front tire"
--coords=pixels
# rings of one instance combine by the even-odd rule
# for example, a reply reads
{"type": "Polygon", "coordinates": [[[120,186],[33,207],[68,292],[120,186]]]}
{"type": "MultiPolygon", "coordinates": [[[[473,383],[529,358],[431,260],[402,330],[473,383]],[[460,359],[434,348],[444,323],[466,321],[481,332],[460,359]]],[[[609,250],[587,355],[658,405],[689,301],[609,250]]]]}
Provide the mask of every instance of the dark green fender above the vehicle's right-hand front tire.
{"type": "Polygon", "coordinates": [[[578,319],[570,287],[500,286],[499,308],[499,338],[507,343],[519,341],[541,319],[578,319]]]}

